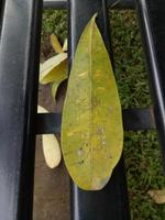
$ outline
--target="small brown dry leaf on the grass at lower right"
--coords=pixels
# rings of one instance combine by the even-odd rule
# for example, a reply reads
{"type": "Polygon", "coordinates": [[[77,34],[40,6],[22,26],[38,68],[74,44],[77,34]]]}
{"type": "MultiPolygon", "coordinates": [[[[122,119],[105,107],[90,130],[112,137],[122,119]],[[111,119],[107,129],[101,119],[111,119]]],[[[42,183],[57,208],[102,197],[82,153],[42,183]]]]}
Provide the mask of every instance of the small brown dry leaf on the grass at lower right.
{"type": "Polygon", "coordinates": [[[155,204],[165,204],[165,189],[150,190],[147,194],[152,197],[155,204]]]}

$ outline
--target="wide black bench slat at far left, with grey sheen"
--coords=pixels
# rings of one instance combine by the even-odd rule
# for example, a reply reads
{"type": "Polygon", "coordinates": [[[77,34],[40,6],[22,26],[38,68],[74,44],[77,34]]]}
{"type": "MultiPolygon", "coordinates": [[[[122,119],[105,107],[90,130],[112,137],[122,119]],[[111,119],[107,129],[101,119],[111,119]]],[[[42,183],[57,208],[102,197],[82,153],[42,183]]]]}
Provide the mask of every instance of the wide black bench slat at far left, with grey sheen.
{"type": "Polygon", "coordinates": [[[0,31],[0,219],[31,220],[42,1],[3,1],[0,31]]]}

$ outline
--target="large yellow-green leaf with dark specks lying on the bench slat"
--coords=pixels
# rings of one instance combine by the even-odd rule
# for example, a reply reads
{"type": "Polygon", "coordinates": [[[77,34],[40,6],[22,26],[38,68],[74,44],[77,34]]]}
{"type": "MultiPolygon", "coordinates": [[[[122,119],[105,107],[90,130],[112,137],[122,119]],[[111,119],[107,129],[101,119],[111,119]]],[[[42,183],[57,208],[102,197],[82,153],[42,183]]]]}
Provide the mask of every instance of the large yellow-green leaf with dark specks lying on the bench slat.
{"type": "Polygon", "coordinates": [[[62,150],[67,169],[82,189],[110,179],[123,145],[121,105],[111,62],[96,15],[75,55],[64,105],[62,150]]]}

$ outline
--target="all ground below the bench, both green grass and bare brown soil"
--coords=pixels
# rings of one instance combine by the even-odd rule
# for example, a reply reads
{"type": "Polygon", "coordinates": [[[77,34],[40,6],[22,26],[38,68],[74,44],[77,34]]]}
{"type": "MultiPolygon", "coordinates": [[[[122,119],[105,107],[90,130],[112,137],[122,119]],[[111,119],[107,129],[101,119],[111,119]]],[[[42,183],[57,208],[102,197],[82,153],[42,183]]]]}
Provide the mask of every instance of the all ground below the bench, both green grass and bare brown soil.
{"type": "MultiPolygon", "coordinates": [[[[151,98],[136,15],[133,11],[113,11],[110,15],[122,108],[147,107],[151,98]]],[[[62,42],[66,37],[66,18],[65,11],[44,11],[41,61],[53,55],[50,34],[56,33],[62,42]]],[[[38,102],[54,110],[50,86],[40,88],[38,102]]],[[[46,167],[40,139],[36,146],[34,220],[69,220],[67,172],[64,165],[55,170],[46,167]]],[[[155,205],[147,195],[150,189],[165,188],[156,132],[125,132],[124,158],[132,220],[164,220],[165,205],[155,205]]]]}

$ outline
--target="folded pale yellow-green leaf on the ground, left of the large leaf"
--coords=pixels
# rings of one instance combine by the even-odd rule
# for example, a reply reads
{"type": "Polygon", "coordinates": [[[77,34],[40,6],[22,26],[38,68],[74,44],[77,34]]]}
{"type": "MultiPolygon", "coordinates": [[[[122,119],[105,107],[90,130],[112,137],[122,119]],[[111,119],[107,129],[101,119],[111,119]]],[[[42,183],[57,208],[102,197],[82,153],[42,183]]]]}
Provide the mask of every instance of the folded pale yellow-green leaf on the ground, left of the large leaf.
{"type": "Polygon", "coordinates": [[[58,54],[40,66],[40,82],[45,85],[55,81],[56,78],[64,78],[67,74],[67,54],[58,54]]]}

